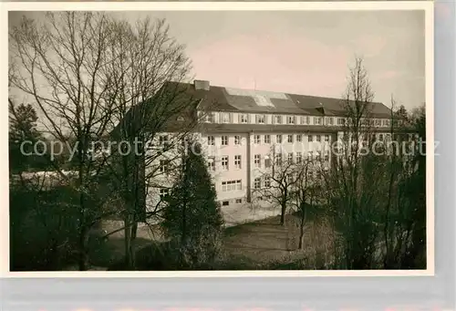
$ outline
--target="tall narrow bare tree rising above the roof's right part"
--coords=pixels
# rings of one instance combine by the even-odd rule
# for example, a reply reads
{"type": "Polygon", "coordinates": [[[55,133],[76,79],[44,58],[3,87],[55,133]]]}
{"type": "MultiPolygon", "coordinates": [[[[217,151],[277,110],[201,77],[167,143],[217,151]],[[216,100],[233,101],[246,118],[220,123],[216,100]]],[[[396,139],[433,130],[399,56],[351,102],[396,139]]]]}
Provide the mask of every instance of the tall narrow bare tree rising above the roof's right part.
{"type": "Polygon", "coordinates": [[[338,141],[336,165],[326,181],[326,191],[336,219],[335,226],[343,236],[344,263],[348,269],[368,268],[375,254],[378,229],[374,215],[377,191],[372,181],[375,165],[364,154],[375,141],[371,119],[372,99],[368,71],[362,58],[356,58],[349,70],[347,91],[342,101],[346,122],[338,141]]]}

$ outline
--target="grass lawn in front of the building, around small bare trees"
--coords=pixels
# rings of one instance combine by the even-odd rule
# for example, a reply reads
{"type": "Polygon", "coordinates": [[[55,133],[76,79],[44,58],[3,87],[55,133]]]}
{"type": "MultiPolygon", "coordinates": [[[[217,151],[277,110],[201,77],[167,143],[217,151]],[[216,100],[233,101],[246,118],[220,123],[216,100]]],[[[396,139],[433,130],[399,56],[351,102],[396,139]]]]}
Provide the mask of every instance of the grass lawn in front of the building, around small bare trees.
{"type": "MultiPolygon", "coordinates": [[[[331,230],[326,225],[309,221],[306,223],[304,248],[298,250],[299,218],[293,214],[286,215],[285,225],[281,225],[280,217],[275,216],[228,227],[223,236],[223,259],[217,264],[217,269],[219,265],[223,270],[274,269],[303,258],[315,261],[316,253],[326,252],[330,237],[331,230]]],[[[143,252],[146,247],[155,247],[160,242],[139,234],[136,247],[143,252]]],[[[95,247],[91,263],[109,266],[119,262],[125,254],[123,247],[122,234],[118,233],[95,247]]]]}

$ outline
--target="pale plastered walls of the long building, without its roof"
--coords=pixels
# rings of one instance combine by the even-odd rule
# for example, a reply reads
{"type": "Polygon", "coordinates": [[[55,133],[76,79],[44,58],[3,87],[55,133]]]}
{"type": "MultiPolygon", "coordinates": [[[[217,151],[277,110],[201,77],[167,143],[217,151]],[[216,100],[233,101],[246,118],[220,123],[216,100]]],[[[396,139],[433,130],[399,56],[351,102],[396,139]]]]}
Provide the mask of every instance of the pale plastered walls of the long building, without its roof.
{"type": "MultiPolygon", "coordinates": [[[[243,115],[247,116],[247,123],[255,123],[257,115],[254,113],[213,113],[213,123],[233,123],[240,124],[243,115]]],[[[215,163],[215,170],[211,171],[212,181],[214,183],[215,190],[217,192],[217,199],[222,203],[222,209],[227,210],[228,203],[230,209],[248,209],[247,205],[252,202],[250,194],[254,189],[255,178],[261,177],[264,173],[264,161],[266,156],[271,156],[273,150],[275,153],[280,152],[283,154],[283,160],[288,159],[288,154],[293,153],[293,160],[296,160],[296,155],[301,152],[303,161],[308,157],[316,157],[319,153],[320,157],[326,158],[327,154],[327,166],[330,167],[331,162],[335,162],[336,158],[331,154],[331,144],[336,140],[341,140],[342,132],[337,130],[337,117],[331,117],[332,120],[321,117],[309,116],[301,118],[295,116],[295,124],[308,124],[308,125],[325,125],[328,129],[334,127],[333,131],[318,132],[318,131],[305,131],[299,132],[296,129],[295,132],[277,132],[274,131],[274,124],[276,122],[276,115],[264,114],[264,124],[269,126],[271,131],[255,133],[255,132],[240,132],[240,133],[229,133],[229,132],[209,132],[209,133],[196,133],[194,134],[196,140],[201,142],[202,152],[208,162],[212,159],[215,163]],[[320,120],[316,120],[320,118],[320,120]],[[321,122],[321,123],[319,123],[321,122]],[[331,124],[332,123],[332,124],[331,124]],[[277,142],[277,136],[282,137],[281,142],[277,142]],[[288,141],[288,135],[292,135],[293,141],[288,141]],[[299,135],[301,140],[298,141],[296,136],[299,135]],[[265,142],[265,137],[269,136],[269,142],[265,142]],[[224,145],[222,143],[223,137],[227,137],[228,143],[224,145]],[[235,143],[235,137],[239,138],[239,144],[235,143]],[[309,141],[309,137],[312,138],[309,141]],[[259,140],[258,140],[259,138],[259,140]],[[213,145],[212,145],[213,140],[213,145]],[[260,167],[256,167],[254,159],[255,155],[260,156],[260,167]],[[235,157],[241,157],[241,167],[235,167],[235,157]],[[228,157],[228,170],[223,169],[222,161],[223,157],[228,157]],[[226,191],[223,187],[223,181],[241,181],[241,187],[238,189],[235,187],[231,191],[226,191]],[[247,204],[247,205],[245,205],[247,204]]],[[[288,116],[280,115],[280,124],[287,124],[288,116]]],[[[384,133],[378,133],[377,138],[380,139],[380,135],[386,137],[386,131],[389,127],[383,123],[379,123],[378,130],[384,131],[384,133]]],[[[170,133],[169,133],[170,134],[170,133]]],[[[172,134],[170,134],[172,136],[172,134]]],[[[170,154],[170,153],[168,153],[170,154]]],[[[159,159],[153,163],[158,165],[159,159]]],[[[210,166],[209,166],[210,167],[210,166]]],[[[150,169],[150,168],[149,168],[150,169]]],[[[146,169],[148,170],[148,169],[146,169]]],[[[148,195],[147,202],[150,206],[154,206],[155,203],[160,202],[160,186],[171,187],[173,178],[170,175],[158,176],[154,185],[147,185],[148,195]]],[[[263,181],[262,181],[263,182],[263,181]]],[[[264,202],[264,205],[267,205],[264,202]]],[[[275,213],[275,212],[274,212],[275,213]]],[[[243,216],[244,217],[244,216],[243,216]]]]}

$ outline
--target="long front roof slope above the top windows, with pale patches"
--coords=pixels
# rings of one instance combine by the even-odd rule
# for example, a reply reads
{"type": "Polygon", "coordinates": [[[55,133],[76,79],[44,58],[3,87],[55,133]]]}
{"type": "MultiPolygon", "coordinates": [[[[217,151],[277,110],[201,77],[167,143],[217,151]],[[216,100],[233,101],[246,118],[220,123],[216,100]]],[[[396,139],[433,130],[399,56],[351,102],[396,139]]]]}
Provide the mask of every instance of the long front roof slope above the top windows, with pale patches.
{"type": "MultiPolygon", "coordinates": [[[[199,104],[202,110],[314,116],[344,116],[346,113],[345,102],[340,98],[217,86],[211,86],[209,90],[197,90],[190,83],[179,85],[189,97],[202,99],[199,104]]],[[[389,118],[390,109],[382,103],[372,102],[369,105],[373,117],[389,118]]]]}

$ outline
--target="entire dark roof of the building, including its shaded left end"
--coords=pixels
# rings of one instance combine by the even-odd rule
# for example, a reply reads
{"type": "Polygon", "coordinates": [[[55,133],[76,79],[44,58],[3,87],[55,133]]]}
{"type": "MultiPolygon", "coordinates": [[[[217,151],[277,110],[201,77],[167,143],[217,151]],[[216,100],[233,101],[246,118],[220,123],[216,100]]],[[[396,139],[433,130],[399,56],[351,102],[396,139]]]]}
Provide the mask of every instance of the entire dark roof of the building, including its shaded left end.
{"type": "MultiPolygon", "coordinates": [[[[385,105],[381,103],[370,105],[374,117],[389,118],[390,110],[385,105]]],[[[341,117],[346,111],[342,99],[338,98],[213,86],[209,90],[204,90],[195,89],[192,83],[166,82],[153,98],[131,108],[123,122],[125,125],[135,124],[134,128],[141,128],[142,124],[157,132],[192,130],[195,126],[201,130],[221,132],[267,132],[271,127],[261,124],[202,124],[200,126],[197,110],[341,117]],[[147,120],[140,117],[144,112],[150,116],[146,118],[147,120]],[[167,116],[167,118],[160,118],[161,116],[167,116]]],[[[119,130],[119,125],[111,134],[119,130]]],[[[330,132],[335,128],[332,127],[332,130],[329,130],[324,126],[283,124],[274,125],[274,129],[283,132],[330,132]]]]}

